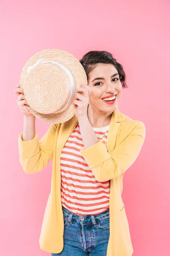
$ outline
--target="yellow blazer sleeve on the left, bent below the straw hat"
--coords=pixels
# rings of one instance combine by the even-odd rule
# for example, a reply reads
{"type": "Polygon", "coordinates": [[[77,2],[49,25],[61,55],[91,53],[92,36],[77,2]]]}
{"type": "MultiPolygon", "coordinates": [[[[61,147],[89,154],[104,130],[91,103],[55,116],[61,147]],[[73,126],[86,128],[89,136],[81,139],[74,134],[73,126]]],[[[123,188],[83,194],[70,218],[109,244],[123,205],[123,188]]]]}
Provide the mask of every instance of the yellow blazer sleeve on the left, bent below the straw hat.
{"type": "Polygon", "coordinates": [[[24,172],[27,174],[41,171],[53,158],[54,141],[57,125],[51,124],[48,131],[38,142],[38,134],[32,140],[23,141],[23,133],[19,134],[19,159],[24,172]]]}

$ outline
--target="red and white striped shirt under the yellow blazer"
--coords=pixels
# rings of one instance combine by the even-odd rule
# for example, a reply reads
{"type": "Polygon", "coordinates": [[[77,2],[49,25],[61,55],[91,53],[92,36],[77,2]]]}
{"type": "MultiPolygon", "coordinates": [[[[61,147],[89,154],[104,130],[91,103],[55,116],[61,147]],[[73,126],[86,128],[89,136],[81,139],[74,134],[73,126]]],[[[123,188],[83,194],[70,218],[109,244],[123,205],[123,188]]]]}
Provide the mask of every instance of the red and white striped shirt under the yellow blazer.
{"type": "MultiPolygon", "coordinates": [[[[107,142],[109,125],[94,128],[99,140],[107,142]]],[[[95,215],[109,208],[110,182],[99,182],[79,152],[84,146],[79,124],[62,149],[61,202],[62,206],[77,215],[95,215]]]]}

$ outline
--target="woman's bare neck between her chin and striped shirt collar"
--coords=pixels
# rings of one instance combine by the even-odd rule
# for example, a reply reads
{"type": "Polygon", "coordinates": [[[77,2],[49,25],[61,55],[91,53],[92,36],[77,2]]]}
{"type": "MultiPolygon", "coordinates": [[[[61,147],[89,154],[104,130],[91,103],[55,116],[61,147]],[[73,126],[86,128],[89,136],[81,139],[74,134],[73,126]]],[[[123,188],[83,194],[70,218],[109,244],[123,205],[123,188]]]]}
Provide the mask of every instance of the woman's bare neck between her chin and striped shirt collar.
{"type": "Polygon", "coordinates": [[[88,120],[93,127],[101,128],[109,125],[112,113],[99,111],[94,109],[90,104],[88,105],[88,120]]]}

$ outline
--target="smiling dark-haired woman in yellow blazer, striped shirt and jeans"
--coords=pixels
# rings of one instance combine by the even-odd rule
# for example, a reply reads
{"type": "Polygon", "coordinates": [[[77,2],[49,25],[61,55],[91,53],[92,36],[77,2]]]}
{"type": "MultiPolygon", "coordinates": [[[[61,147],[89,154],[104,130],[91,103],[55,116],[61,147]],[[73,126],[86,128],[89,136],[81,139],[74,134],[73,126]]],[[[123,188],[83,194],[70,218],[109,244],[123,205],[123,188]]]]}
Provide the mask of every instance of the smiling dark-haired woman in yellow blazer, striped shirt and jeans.
{"type": "Polygon", "coordinates": [[[40,248],[52,256],[131,256],[122,180],[142,148],[145,126],[119,112],[121,88],[127,85],[111,53],[91,51],[80,63],[88,85],[77,90],[75,115],[51,124],[39,142],[23,89],[15,89],[24,114],[18,138],[23,170],[39,172],[53,158],[40,248]]]}

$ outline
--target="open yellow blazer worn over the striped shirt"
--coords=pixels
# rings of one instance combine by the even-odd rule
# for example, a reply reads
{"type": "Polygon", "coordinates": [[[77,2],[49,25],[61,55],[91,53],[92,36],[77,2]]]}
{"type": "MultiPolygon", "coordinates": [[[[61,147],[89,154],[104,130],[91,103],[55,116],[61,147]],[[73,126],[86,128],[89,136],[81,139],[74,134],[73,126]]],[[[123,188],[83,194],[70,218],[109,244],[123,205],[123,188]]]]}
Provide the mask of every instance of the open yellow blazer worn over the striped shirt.
{"type": "MultiPolygon", "coordinates": [[[[64,123],[51,124],[38,142],[38,134],[30,141],[18,137],[20,164],[27,174],[41,171],[53,158],[51,192],[45,208],[40,233],[40,248],[49,253],[63,249],[64,220],[61,204],[60,155],[62,148],[76,127],[74,115],[64,123]]],[[[111,117],[107,143],[99,140],[95,145],[80,150],[96,180],[110,180],[110,237],[107,256],[131,256],[133,247],[129,225],[122,201],[123,175],[139,155],[145,139],[145,126],[119,112],[111,117]]]]}

